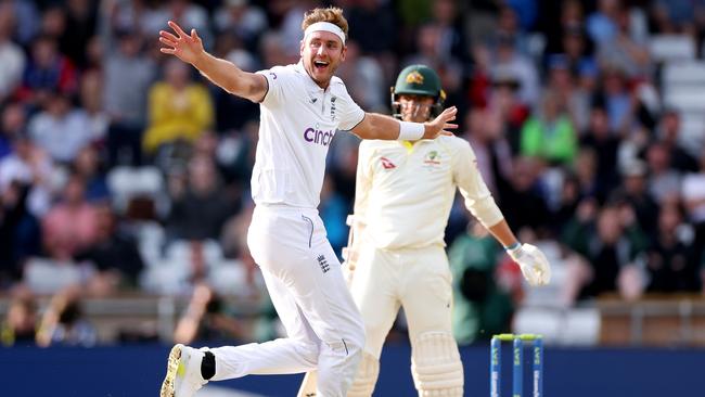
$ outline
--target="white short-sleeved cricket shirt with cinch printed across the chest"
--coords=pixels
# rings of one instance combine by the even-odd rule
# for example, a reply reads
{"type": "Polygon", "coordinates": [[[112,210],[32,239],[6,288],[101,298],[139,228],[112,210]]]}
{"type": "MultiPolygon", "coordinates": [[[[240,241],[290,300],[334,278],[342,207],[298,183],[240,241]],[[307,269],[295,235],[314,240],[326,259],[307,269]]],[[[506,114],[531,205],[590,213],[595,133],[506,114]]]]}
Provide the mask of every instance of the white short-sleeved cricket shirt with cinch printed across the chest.
{"type": "Polygon", "coordinates": [[[320,88],[303,64],[257,72],[267,78],[259,111],[259,142],[252,175],[255,204],[317,208],[325,155],[338,129],[357,126],[364,112],[333,77],[320,88]]]}

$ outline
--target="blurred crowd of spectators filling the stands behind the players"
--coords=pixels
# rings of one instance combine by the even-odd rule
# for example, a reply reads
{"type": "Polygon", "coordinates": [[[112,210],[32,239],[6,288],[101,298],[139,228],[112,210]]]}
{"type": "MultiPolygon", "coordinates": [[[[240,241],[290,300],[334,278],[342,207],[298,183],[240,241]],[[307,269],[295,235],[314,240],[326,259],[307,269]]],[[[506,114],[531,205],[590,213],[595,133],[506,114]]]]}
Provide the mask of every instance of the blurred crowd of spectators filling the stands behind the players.
{"type": "MultiPolygon", "coordinates": [[[[130,292],[192,296],[188,342],[190,316],[225,310],[214,296],[264,293],[245,244],[258,106],[159,53],[158,30],[195,28],[255,72],[297,62],[304,12],[328,4],[348,18],[337,75],[366,111],[388,114],[403,66],[439,73],[509,223],[557,246],[562,304],[702,291],[705,102],[669,101],[665,71],[705,55],[705,1],[0,0],[2,342],[94,343],[70,303],[130,292]],[[669,55],[682,43],[690,56],[669,55]],[[35,319],[33,294],[56,309],[35,319]]],[[[319,208],[338,253],[357,145],[337,135],[319,208]]],[[[457,201],[456,319],[503,330],[521,276],[480,229],[457,201]]]]}

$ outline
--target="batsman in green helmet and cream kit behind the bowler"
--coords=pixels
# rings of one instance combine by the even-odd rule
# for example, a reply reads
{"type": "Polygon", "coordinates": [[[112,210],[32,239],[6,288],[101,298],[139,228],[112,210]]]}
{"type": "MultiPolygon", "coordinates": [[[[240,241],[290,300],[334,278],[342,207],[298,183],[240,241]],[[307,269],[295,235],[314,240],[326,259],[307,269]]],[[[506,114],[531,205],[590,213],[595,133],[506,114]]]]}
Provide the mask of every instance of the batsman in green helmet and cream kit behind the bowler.
{"type": "MultiPolygon", "coordinates": [[[[392,88],[394,116],[403,121],[433,119],[444,99],[438,75],[424,65],[406,67],[392,88]]],[[[444,242],[456,189],[530,285],[549,283],[549,262],[536,246],[518,242],[479,174],[470,143],[461,138],[363,141],[356,183],[344,256],[367,342],[348,397],[374,392],[382,345],[400,307],[409,325],[419,396],[462,396],[463,367],[451,333],[451,273],[444,242]]],[[[305,381],[299,396],[312,395],[305,381]]]]}

